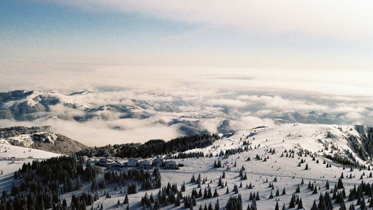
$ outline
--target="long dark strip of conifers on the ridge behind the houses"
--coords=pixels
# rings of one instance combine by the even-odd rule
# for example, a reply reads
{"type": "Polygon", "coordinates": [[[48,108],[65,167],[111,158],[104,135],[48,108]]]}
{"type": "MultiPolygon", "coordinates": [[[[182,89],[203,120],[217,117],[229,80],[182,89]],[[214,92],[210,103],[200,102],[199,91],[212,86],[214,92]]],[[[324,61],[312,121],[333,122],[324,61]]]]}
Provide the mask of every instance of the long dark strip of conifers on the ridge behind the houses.
{"type": "Polygon", "coordinates": [[[185,152],[190,149],[203,148],[211,145],[215,140],[219,140],[217,134],[196,134],[193,136],[184,136],[170,141],[149,140],[144,144],[126,143],[106,145],[103,147],[85,148],[77,155],[87,157],[155,157],[177,152],[185,152]]]}

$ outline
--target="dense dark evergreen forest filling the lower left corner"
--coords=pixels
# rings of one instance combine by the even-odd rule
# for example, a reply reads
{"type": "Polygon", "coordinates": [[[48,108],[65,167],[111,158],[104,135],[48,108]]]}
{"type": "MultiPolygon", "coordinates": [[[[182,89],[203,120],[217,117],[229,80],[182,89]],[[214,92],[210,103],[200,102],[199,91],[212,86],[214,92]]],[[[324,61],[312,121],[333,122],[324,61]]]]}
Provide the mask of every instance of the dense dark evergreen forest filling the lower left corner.
{"type": "MultiPolygon", "coordinates": [[[[20,184],[13,184],[13,197],[3,192],[0,210],[67,210],[68,204],[60,199],[61,194],[81,189],[81,177],[95,183],[99,173],[100,169],[95,166],[87,165],[84,169],[83,160],[75,156],[24,163],[14,174],[15,183],[20,184]]],[[[71,210],[85,209],[85,205],[95,200],[98,200],[97,192],[94,195],[90,192],[83,192],[79,196],[73,194],[71,210]]]]}

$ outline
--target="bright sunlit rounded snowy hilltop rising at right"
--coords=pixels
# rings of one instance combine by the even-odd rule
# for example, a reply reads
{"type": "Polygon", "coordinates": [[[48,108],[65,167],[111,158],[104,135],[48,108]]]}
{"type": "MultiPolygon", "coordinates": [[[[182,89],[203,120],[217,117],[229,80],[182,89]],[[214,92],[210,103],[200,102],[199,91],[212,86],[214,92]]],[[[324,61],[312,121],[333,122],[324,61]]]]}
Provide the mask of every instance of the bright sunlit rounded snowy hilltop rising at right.
{"type": "Polygon", "coordinates": [[[354,154],[351,144],[348,142],[350,135],[356,136],[358,139],[361,137],[354,125],[286,123],[274,127],[239,131],[235,135],[223,138],[209,147],[187,152],[202,151],[216,155],[220,150],[243,147],[244,141],[250,142],[253,148],[253,145],[260,145],[261,147],[306,149],[311,152],[320,152],[321,150],[328,152],[325,150],[325,146],[327,146],[329,152],[333,149],[340,152],[349,151],[362,163],[363,160],[354,154]]]}

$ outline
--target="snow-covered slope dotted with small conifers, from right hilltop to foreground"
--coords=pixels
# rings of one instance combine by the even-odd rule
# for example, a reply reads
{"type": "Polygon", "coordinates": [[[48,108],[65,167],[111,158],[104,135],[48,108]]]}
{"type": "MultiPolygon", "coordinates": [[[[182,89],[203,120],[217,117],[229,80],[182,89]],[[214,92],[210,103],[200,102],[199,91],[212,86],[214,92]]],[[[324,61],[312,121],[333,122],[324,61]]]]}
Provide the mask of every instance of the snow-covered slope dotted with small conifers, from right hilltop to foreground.
{"type": "MultiPolygon", "coordinates": [[[[351,150],[349,143],[346,140],[349,135],[354,135],[359,137],[358,132],[354,129],[352,125],[325,125],[325,124],[281,124],[274,127],[263,127],[256,129],[248,129],[245,131],[237,132],[235,135],[229,138],[223,138],[214,142],[213,145],[208,146],[202,149],[193,149],[186,151],[188,152],[203,152],[205,155],[213,153],[213,157],[200,157],[200,158],[186,158],[186,159],[176,159],[179,163],[184,163],[184,167],[181,167],[180,170],[161,170],[162,175],[162,185],[166,186],[168,182],[177,183],[178,187],[182,185],[185,181],[186,183],[186,192],[183,195],[187,195],[192,191],[193,188],[197,188],[197,184],[190,183],[190,178],[192,175],[197,177],[198,174],[201,174],[202,178],[207,177],[208,181],[205,184],[202,184],[202,192],[204,188],[212,181],[211,186],[212,191],[217,188],[219,193],[219,203],[220,209],[223,209],[227,203],[227,200],[230,196],[235,195],[233,190],[234,184],[237,186],[242,182],[242,188],[238,188],[239,193],[242,196],[243,207],[246,209],[247,205],[252,201],[249,201],[250,192],[259,192],[260,201],[257,201],[258,210],[273,210],[278,200],[280,208],[285,203],[286,208],[288,209],[288,204],[291,198],[291,195],[295,193],[296,187],[300,185],[302,179],[304,179],[303,185],[300,185],[301,193],[296,193],[302,197],[303,205],[305,209],[310,209],[312,207],[313,201],[316,201],[319,198],[320,192],[330,192],[326,190],[325,183],[328,180],[330,183],[331,189],[334,187],[334,184],[338,182],[339,176],[341,173],[344,173],[344,176],[352,175],[353,178],[343,179],[345,186],[345,191],[348,194],[349,190],[353,188],[356,184],[358,185],[362,179],[360,176],[363,175],[363,180],[366,182],[373,182],[373,178],[369,178],[368,175],[370,171],[362,170],[359,171],[355,169],[353,172],[350,172],[350,168],[346,167],[345,170],[342,169],[342,166],[336,164],[329,159],[322,157],[323,152],[325,151],[324,144],[320,142],[327,142],[329,145],[337,145],[338,150],[351,150]],[[351,129],[352,128],[352,129],[351,129]],[[329,134],[329,135],[328,135],[329,134]],[[247,138],[247,136],[250,137],[247,138]],[[239,148],[243,146],[243,141],[249,141],[253,149],[242,152],[240,154],[235,154],[229,156],[228,159],[220,159],[216,157],[216,154],[220,150],[225,151],[227,149],[239,148]],[[258,146],[260,144],[260,146],[258,146]],[[255,148],[256,146],[256,148],[255,148]],[[275,149],[275,154],[270,154],[269,150],[275,149]],[[295,150],[294,158],[291,157],[281,157],[282,153],[290,149],[295,150]],[[319,163],[316,160],[312,160],[312,157],[298,157],[297,152],[300,149],[306,149],[312,151],[315,154],[316,160],[319,160],[319,163]],[[319,152],[320,151],[320,152],[319,152]],[[263,159],[269,157],[267,161],[256,160],[255,156],[258,155],[263,159]],[[251,160],[248,161],[247,158],[251,157],[251,160]],[[304,159],[305,163],[302,163],[299,167],[300,158],[304,159]],[[214,162],[221,160],[223,167],[214,168],[214,162]],[[325,164],[323,161],[325,160],[325,164]],[[225,164],[225,162],[227,162],[225,164]],[[234,166],[236,162],[236,167],[234,166]],[[326,163],[330,163],[331,167],[327,168],[326,163]],[[305,165],[308,164],[310,170],[305,170],[305,165]],[[227,170],[227,166],[230,167],[227,170]],[[239,170],[244,166],[247,173],[247,180],[240,180],[239,170]],[[222,173],[225,172],[226,178],[222,179],[229,188],[230,193],[226,193],[226,187],[221,189],[217,187],[219,177],[222,173]],[[276,182],[273,182],[274,178],[277,178],[276,182]],[[268,182],[266,182],[268,180],[268,182]],[[269,188],[269,182],[273,183],[274,190],[269,188]],[[308,182],[314,184],[317,188],[320,187],[317,194],[312,194],[312,191],[307,189],[308,182]],[[254,185],[253,189],[245,188],[246,185],[252,183],[254,185]],[[286,194],[281,195],[283,189],[286,189],[286,194]],[[277,189],[280,192],[280,196],[274,196],[270,199],[271,191],[273,195],[277,189]]],[[[330,151],[330,149],[328,150],[330,151]]],[[[326,151],[327,152],[327,151],[326,151]]],[[[285,153],[284,153],[285,154],[285,153]]],[[[354,154],[354,156],[362,162],[362,160],[354,154]]],[[[109,187],[110,188],[110,187],[109,187]]],[[[149,191],[141,191],[137,194],[129,195],[130,206],[133,210],[143,209],[140,205],[141,197],[144,196],[145,192],[150,195],[156,195],[159,189],[153,189],[149,191]]],[[[199,189],[197,189],[199,191],[199,189]]],[[[100,200],[94,204],[96,207],[97,204],[103,205],[104,209],[123,209],[125,205],[117,205],[119,199],[120,202],[123,201],[125,194],[120,194],[118,191],[111,191],[112,198],[106,199],[104,196],[100,197],[100,200]]],[[[237,195],[237,194],[236,194],[237,195]]],[[[204,207],[204,204],[211,204],[214,206],[217,198],[196,199],[197,206],[194,209],[198,209],[200,205],[204,207]]],[[[354,201],[356,202],[356,201],[354,201]]],[[[351,202],[346,202],[348,207],[351,202]]],[[[339,205],[335,205],[335,209],[339,209],[339,205]]],[[[174,207],[173,204],[168,206],[161,206],[161,209],[185,209],[183,207],[183,202],[180,207],[174,207]]],[[[358,206],[356,206],[358,209],[358,206]]]]}

